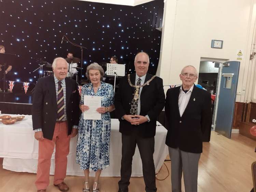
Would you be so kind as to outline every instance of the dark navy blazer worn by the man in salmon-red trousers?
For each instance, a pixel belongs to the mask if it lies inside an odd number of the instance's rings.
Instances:
[[[79,92],[75,80],[65,78],[66,113],[68,135],[72,126],[79,123]],[[52,140],[57,119],[57,96],[53,76],[38,79],[33,93],[32,122],[33,130],[42,129],[44,138]]]

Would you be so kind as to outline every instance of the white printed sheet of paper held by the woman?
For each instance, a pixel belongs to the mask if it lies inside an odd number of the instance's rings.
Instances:
[[[97,108],[101,107],[100,96],[84,95],[84,105],[89,107],[88,110],[84,111],[84,119],[101,120],[101,114],[96,111]]]

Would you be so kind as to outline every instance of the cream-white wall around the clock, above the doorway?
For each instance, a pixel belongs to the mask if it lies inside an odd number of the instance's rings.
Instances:
[[[162,45],[157,75],[164,84],[180,84],[181,69],[188,64],[199,70],[200,58],[238,61],[238,91],[246,87],[253,38],[255,0],[166,0]],[[211,40],[223,40],[223,49],[211,48]],[[247,91],[247,90],[246,90]],[[244,102],[244,95],[237,95]]]

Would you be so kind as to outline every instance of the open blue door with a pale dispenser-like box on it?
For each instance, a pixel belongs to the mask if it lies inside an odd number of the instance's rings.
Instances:
[[[240,62],[223,63],[215,131],[230,138]]]

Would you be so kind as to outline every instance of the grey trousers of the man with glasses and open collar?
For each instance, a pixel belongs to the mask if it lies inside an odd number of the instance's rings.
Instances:
[[[201,153],[189,153],[169,147],[172,192],[181,192],[183,171],[185,192],[197,192],[198,162]]]

